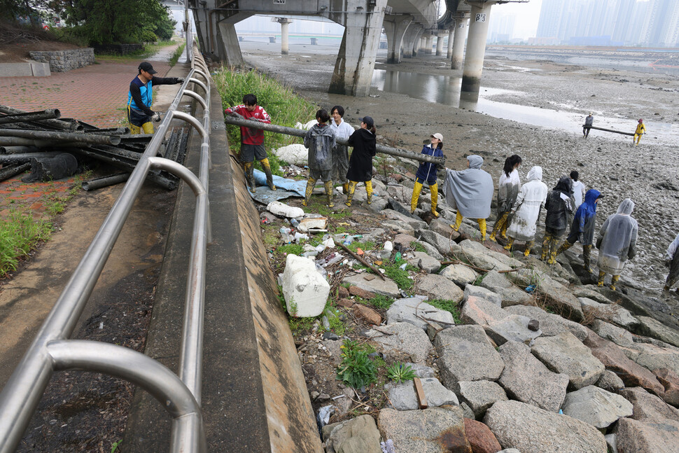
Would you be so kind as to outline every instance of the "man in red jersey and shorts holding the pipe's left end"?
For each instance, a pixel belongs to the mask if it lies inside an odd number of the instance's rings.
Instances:
[[[225,109],[224,114],[241,118],[241,120],[271,124],[269,113],[262,106],[257,105],[257,96],[252,93],[243,97],[243,104]],[[240,161],[243,162],[245,179],[252,193],[255,193],[256,190],[253,167],[255,158],[259,160],[264,173],[267,175],[267,186],[271,190],[276,190],[274,176],[271,174],[271,165],[269,165],[269,159],[267,158],[267,150],[264,148],[264,131],[253,127],[241,126]]]

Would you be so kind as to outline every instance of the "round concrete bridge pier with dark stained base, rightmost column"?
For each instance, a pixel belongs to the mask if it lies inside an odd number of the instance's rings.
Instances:
[[[491,8],[495,1],[467,0],[472,7],[467,53],[462,71],[462,91],[478,92],[481,88],[483,59],[486,55],[486,36],[491,17]]]

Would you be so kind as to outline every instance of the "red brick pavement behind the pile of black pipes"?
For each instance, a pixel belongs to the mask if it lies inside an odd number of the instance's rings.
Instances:
[[[63,118],[118,127],[125,120],[127,92],[138,66],[97,59],[91,66],[49,77],[0,77],[0,104],[25,111],[59,109]],[[167,62],[153,62],[153,68],[159,77],[170,69]]]

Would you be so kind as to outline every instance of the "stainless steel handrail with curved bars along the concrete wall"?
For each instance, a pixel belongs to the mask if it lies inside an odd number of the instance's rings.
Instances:
[[[143,387],[161,401],[173,418],[170,451],[207,452],[200,412],[200,393],[205,256],[207,244],[211,241],[208,199],[211,85],[207,65],[202,61],[200,53],[193,51],[191,33],[187,35],[188,47],[191,47],[192,69],[85,256],[80,260],[31,346],[0,393],[0,453],[15,451],[52,373],[71,368],[104,372]],[[196,67],[200,69],[195,69]],[[193,76],[201,76],[204,83]],[[204,99],[187,89],[190,83],[202,88]],[[202,106],[202,123],[193,116],[176,110],[184,95],[196,99],[197,104]],[[177,162],[156,157],[165,132],[173,119],[190,123],[202,137],[198,176]],[[68,340],[151,169],[164,169],[179,176],[196,196],[179,377],[164,365],[132,349],[103,342]]]

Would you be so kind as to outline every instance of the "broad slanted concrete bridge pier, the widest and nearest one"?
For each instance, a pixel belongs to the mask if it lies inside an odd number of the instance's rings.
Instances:
[[[365,1],[346,2],[347,11],[356,13],[345,16],[342,44],[328,92],[356,97],[367,96],[370,92],[386,2],[375,0],[367,6]]]

